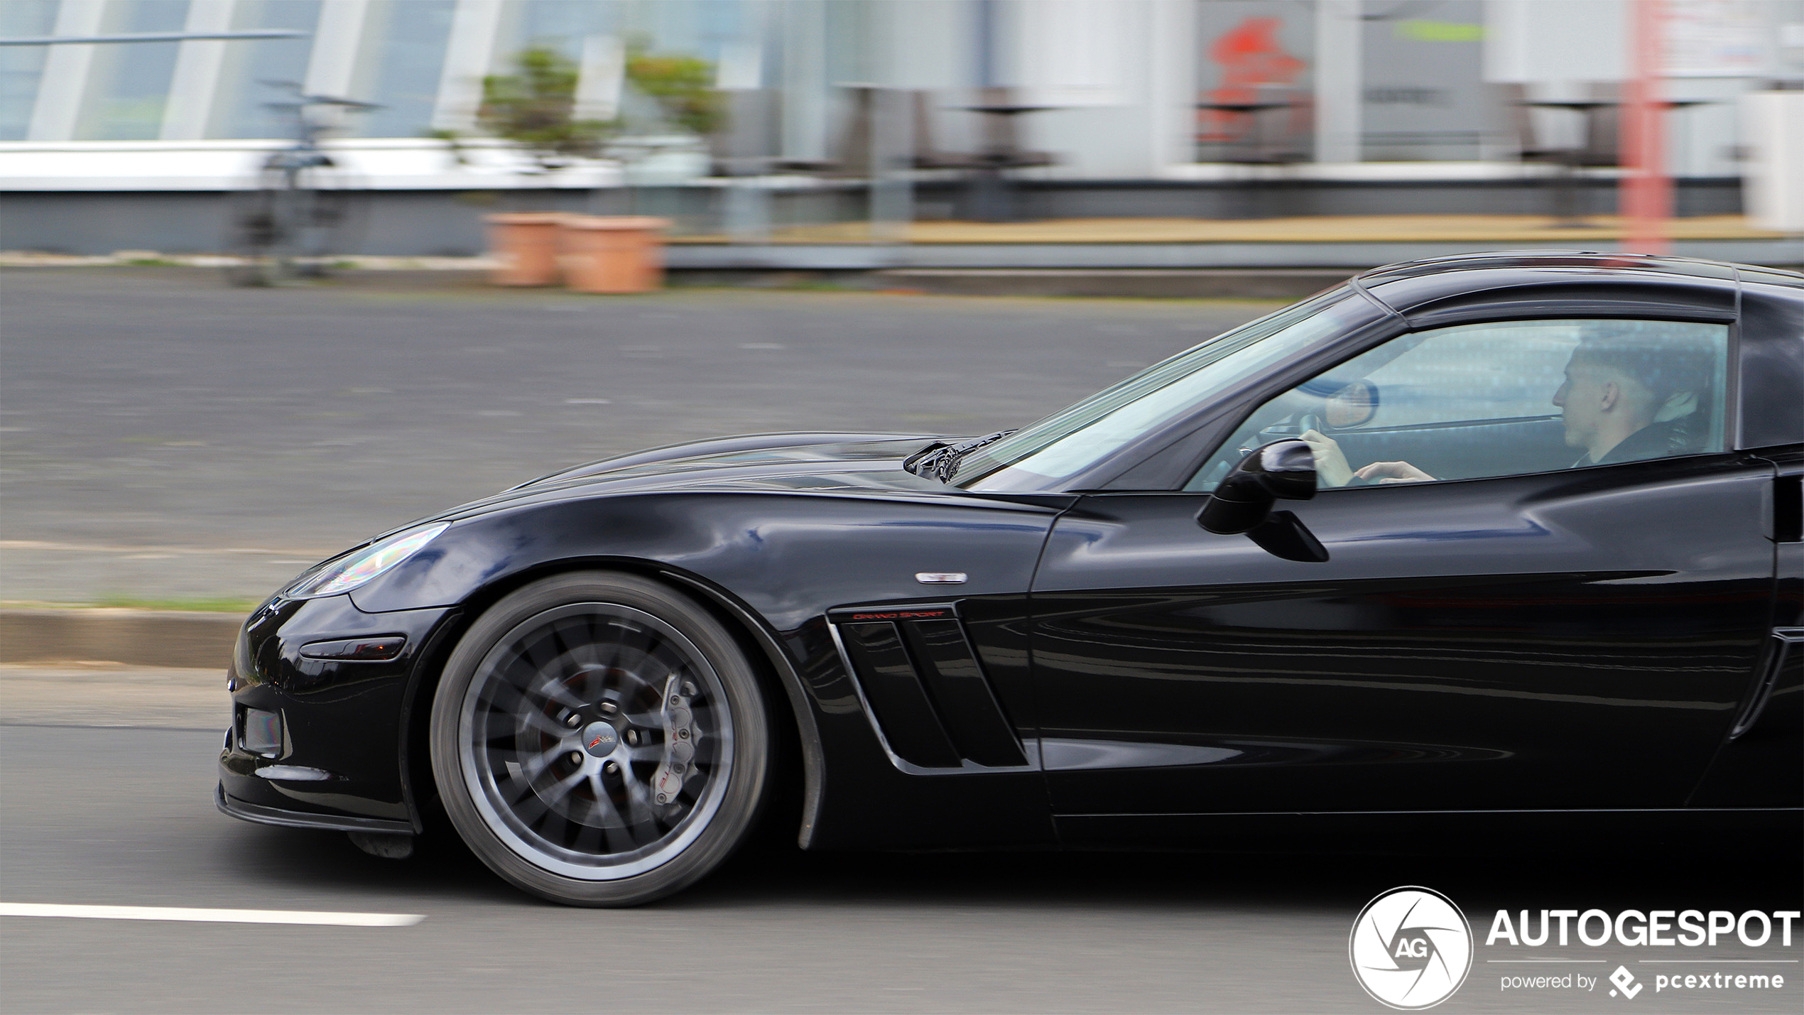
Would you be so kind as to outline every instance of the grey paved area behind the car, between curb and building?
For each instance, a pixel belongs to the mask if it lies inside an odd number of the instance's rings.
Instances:
[[[610,454],[1021,425],[1275,306],[406,281],[0,272],[0,599],[254,600]]]

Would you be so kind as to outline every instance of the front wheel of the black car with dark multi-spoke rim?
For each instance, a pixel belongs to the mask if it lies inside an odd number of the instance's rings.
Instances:
[[[431,712],[446,813],[536,896],[639,905],[718,867],[758,820],[770,723],[732,635],[615,572],[548,577],[482,613]]]

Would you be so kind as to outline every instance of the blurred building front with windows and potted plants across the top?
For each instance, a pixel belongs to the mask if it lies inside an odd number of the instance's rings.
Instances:
[[[678,270],[1366,267],[1607,243],[1645,169],[1656,245],[1804,261],[1804,0],[5,0],[0,36],[13,252],[231,252],[316,144],[346,256],[588,211],[671,220]]]

